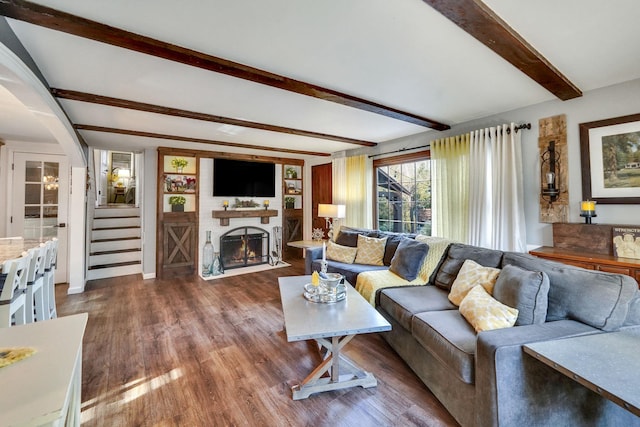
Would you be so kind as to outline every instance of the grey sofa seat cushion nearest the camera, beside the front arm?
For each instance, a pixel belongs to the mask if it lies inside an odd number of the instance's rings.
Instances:
[[[429,311],[413,317],[413,337],[467,384],[475,379],[476,332],[458,310]]]

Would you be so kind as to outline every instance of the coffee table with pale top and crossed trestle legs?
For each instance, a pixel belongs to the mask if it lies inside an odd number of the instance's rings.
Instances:
[[[332,304],[307,301],[303,287],[310,281],[311,276],[278,279],[287,341],[313,339],[323,354],[322,362],[300,384],[292,387],[293,399],[355,386],[375,387],[378,382],[373,374],[363,371],[342,355],[341,350],[357,334],[389,331],[391,324],[348,283],[345,283],[347,297],[343,301]],[[322,377],[326,372],[330,377]]]

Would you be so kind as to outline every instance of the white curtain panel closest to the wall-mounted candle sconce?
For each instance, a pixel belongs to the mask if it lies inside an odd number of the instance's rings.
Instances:
[[[526,252],[521,135],[513,123],[471,133],[472,245]]]

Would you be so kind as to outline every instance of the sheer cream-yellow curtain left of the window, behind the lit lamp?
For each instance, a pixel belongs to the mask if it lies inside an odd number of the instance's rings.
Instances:
[[[373,162],[365,155],[333,160],[333,203],[346,209],[340,225],[373,227],[372,169]]]

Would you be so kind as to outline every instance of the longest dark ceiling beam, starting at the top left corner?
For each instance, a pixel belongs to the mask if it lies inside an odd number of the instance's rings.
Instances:
[[[425,126],[436,130],[446,130],[449,126],[416,114],[387,107],[366,99],[340,93],[332,89],[290,79],[285,76],[239,64],[216,56],[187,49],[171,43],[125,31],[116,27],[91,21],[70,13],[21,0],[0,0],[0,14],[9,18],[62,31],[78,37],[146,53],[159,58],[216,73],[227,74],[244,80],[268,85],[301,95],[331,101],[371,113],[381,114],[396,120]]]

